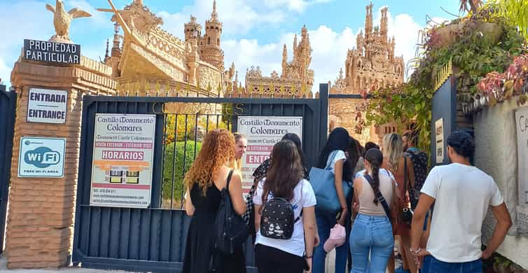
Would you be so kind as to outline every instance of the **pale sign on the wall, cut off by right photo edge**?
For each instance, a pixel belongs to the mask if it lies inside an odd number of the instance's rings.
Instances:
[[[517,230],[528,235],[528,107],[522,107],[515,111],[515,127],[517,127],[517,175],[519,183]]]

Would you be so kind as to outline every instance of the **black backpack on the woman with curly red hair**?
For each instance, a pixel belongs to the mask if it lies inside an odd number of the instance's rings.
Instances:
[[[232,254],[237,246],[242,246],[249,236],[249,229],[242,220],[242,216],[235,213],[232,208],[231,197],[229,195],[229,182],[232,170],[228,174],[228,181],[222,189],[220,207],[216,214],[216,237],[214,248],[221,252]]]

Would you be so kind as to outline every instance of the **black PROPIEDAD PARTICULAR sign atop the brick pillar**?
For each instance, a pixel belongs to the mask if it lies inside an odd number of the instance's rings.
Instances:
[[[24,59],[54,64],[81,64],[81,45],[25,39]]]

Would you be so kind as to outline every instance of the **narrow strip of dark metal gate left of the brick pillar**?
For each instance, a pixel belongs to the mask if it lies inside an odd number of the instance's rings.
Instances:
[[[17,94],[0,85],[0,253],[4,251]]]

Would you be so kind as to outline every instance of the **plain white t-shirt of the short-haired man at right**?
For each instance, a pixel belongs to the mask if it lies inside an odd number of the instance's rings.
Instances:
[[[489,206],[503,203],[493,178],[473,166],[438,166],[427,176],[422,193],[436,200],[427,251],[442,262],[480,259],[482,221]]]

